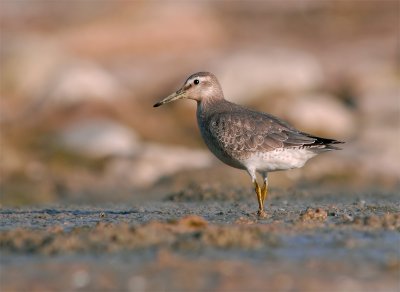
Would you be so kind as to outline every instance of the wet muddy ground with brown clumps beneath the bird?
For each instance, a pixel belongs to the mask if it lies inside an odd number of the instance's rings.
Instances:
[[[399,291],[399,192],[199,189],[2,208],[2,291]]]

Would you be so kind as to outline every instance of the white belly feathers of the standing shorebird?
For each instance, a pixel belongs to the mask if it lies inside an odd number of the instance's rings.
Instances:
[[[317,153],[303,148],[276,149],[270,152],[255,153],[243,164],[247,169],[270,172],[302,167],[315,155]]]

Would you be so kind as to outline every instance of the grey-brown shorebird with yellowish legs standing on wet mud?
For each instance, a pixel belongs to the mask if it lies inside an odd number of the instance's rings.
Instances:
[[[209,72],[191,75],[178,91],[154,107],[179,99],[197,102],[197,124],[211,152],[227,165],[248,172],[260,218],[266,217],[269,172],[300,168],[322,152],[340,149],[334,144],[343,143],[301,132],[273,115],[227,101],[217,78]],[[263,178],[262,187],[257,172]]]

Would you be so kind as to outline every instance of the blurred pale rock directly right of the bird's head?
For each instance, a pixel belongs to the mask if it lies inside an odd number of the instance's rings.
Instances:
[[[245,103],[271,92],[304,92],[319,87],[323,72],[318,61],[296,50],[270,49],[234,53],[214,66],[225,97]]]

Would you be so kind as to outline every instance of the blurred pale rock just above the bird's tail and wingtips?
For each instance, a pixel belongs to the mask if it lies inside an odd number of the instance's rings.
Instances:
[[[276,99],[272,103],[274,112],[302,131],[336,139],[355,133],[356,116],[334,96],[308,94]]]

